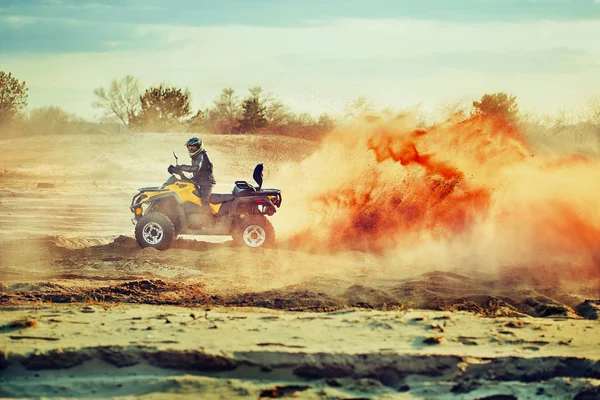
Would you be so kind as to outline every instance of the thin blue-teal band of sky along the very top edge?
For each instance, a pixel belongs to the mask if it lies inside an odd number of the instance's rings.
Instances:
[[[600,18],[600,9],[593,0],[3,0],[0,10],[10,15],[178,26],[293,27],[306,26],[315,20],[339,18],[407,18],[454,22]]]

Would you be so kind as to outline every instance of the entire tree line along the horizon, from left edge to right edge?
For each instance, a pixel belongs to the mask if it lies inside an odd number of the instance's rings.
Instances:
[[[308,113],[294,113],[261,87],[250,88],[243,97],[232,88],[225,88],[209,107],[198,110],[192,110],[188,89],[160,84],[142,90],[139,80],[131,75],[112,80],[107,87],[95,89],[93,95],[92,105],[104,111],[104,121],[118,121],[127,131],[259,133],[319,140],[339,122],[328,114],[314,118]],[[56,106],[25,113],[27,100],[26,82],[10,72],[0,71],[0,127],[18,121],[27,125],[27,130],[32,133],[53,133],[62,132],[73,123],[84,122]],[[345,117],[353,118],[372,111],[367,99],[359,97],[347,103]],[[453,111],[457,110],[449,108],[445,114],[450,115]],[[473,101],[470,114],[520,123],[516,97],[503,92],[484,94]],[[590,105],[588,122],[600,126],[599,116],[600,104]]]

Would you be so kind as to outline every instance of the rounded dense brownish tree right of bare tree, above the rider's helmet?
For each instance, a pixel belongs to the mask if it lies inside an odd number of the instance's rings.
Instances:
[[[130,118],[132,126],[165,131],[190,115],[190,92],[176,87],[153,87],[140,97],[140,112]]]

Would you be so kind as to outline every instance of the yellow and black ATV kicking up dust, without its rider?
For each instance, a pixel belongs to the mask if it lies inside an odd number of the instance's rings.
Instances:
[[[140,247],[165,250],[178,235],[232,236],[234,244],[250,248],[274,244],[275,230],[267,216],[281,206],[281,191],[262,188],[263,164],[253,173],[258,186],[236,181],[231,193],[211,194],[210,212],[202,207],[199,188],[191,179],[173,165],[167,171],[171,176],[161,187],[140,188],[131,201]]]

